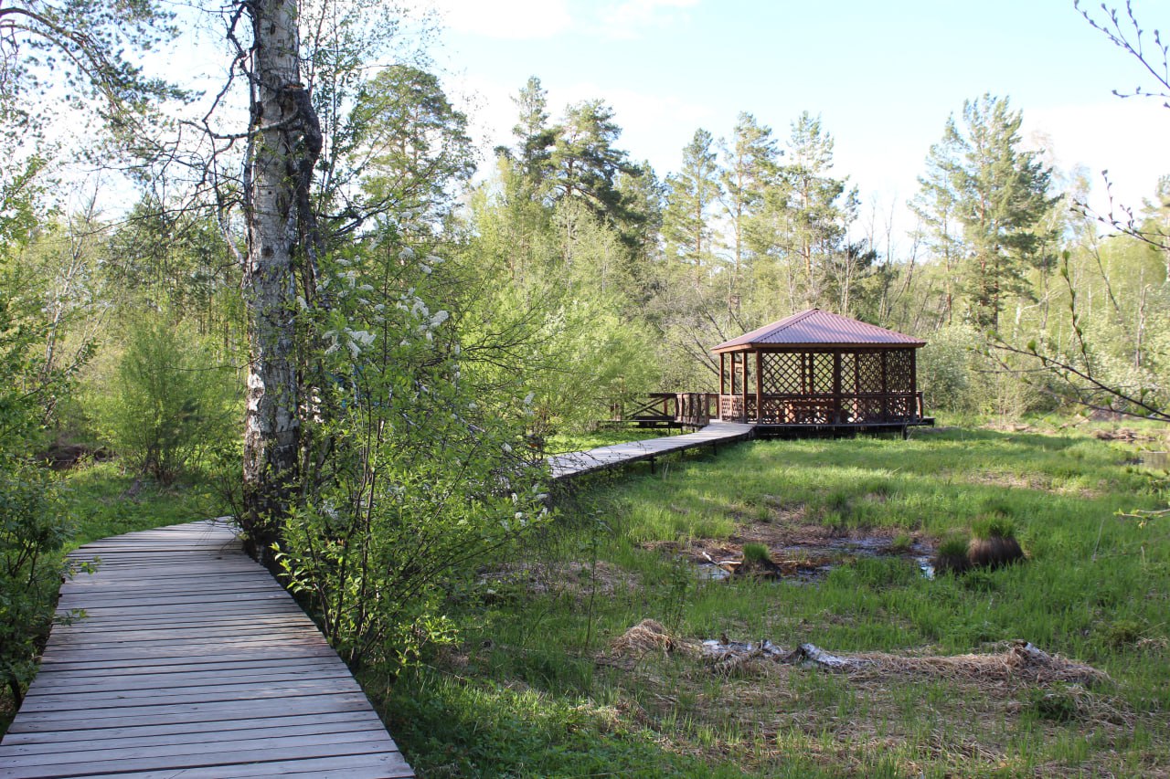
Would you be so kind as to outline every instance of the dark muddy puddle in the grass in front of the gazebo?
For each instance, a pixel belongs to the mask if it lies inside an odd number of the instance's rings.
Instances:
[[[814,584],[825,579],[838,566],[848,565],[859,558],[874,557],[904,559],[917,566],[923,578],[935,578],[935,568],[930,563],[931,549],[918,540],[909,547],[895,547],[893,538],[882,536],[833,538],[815,543],[770,546],[769,553],[779,571],[778,579],[784,581]],[[697,559],[693,554],[683,554],[683,559],[695,565],[701,578],[722,581],[735,575],[734,571],[743,558],[742,553],[716,557],[702,551]]]

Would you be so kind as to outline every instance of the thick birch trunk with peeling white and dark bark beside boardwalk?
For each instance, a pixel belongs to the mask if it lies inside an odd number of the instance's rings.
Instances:
[[[311,277],[315,220],[309,205],[321,127],[301,83],[296,0],[254,0],[252,142],[243,292],[249,322],[248,405],[241,517],[262,559],[277,538],[296,483],[300,444],[296,364],[297,274]]]

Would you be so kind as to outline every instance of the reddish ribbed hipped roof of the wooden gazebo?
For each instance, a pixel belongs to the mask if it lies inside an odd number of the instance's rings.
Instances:
[[[724,342],[711,351],[716,353],[741,352],[757,347],[784,346],[868,346],[878,349],[910,346],[917,349],[925,345],[924,340],[893,330],[858,322],[839,313],[808,309]]]

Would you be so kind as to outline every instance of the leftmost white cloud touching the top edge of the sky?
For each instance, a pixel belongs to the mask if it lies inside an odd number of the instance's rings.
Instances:
[[[552,37],[573,23],[566,0],[429,0],[429,5],[452,29],[484,37]]]

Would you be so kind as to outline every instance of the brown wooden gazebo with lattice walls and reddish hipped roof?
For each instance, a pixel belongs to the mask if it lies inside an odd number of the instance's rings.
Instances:
[[[722,343],[720,419],[764,428],[904,429],[922,408],[925,342],[820,309]]]

